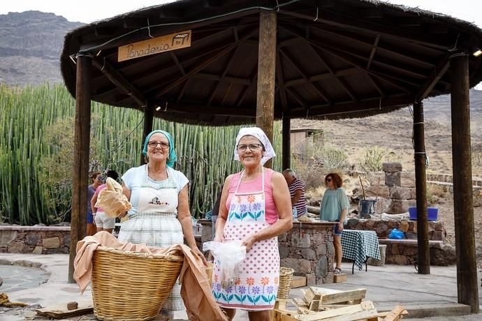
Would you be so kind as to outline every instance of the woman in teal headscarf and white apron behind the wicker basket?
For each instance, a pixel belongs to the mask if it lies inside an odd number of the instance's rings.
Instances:
[[[194,239],[189,211],[188,179],[173,169],[176,153],[173,137],[163,130],[154,130],[145,138],[143,154],[147,164],[133,167],[123,176],[124,195],[132,209],[129,220],[122,223],[120,241],[166,247],[187,244],[205,262]],[[163,310],[184,310],[178,282],[174,285]]]

